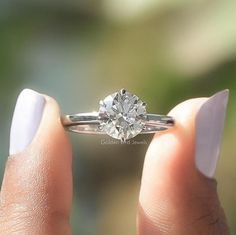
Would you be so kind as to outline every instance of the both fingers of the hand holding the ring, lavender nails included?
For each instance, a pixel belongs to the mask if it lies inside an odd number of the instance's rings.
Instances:
[[[145,157],[139,235],[228,235],[212,178],[228,91],[188,100],[176,127],[156,134]],[[71,234],[72,151],[52,98],[24,90],[13,116],[0,194],[0,234]]]

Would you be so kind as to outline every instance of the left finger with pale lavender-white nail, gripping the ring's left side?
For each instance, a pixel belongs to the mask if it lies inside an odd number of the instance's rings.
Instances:
[[[0,196],[0,234],[70,234],[71,146],[57,103],[19,95]]]

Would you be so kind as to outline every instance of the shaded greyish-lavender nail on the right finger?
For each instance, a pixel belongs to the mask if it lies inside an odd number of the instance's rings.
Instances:
[[[220,155],[229,91],[221,91],[210,97],[196,117],[196,155],[199,171],[212,178]]]

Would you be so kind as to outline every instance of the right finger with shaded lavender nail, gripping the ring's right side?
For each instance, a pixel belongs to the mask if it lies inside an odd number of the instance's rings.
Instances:
[[[228,91],[185,101],[146,154],[139,198],[139,235],[229,234],[212,179],[219,157]]]

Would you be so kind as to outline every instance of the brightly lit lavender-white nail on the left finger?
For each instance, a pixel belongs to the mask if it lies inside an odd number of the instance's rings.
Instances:
[[[23,151],[32,142],[45,106],[45,98],[30,89],[23,90],[16,102],[11,131],[10,155]]]

